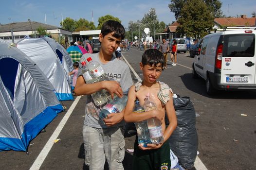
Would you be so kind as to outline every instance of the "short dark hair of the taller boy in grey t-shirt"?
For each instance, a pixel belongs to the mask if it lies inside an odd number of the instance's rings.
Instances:
[[[120,22],[113,20],[108,20],[104,22],[100,32],[103,35],[103,37],[112,32],[114,32],[113,36],[116,38],[125,38],[125,28]]]

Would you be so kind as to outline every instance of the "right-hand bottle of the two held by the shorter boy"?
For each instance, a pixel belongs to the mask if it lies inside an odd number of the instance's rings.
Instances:
[[[144,102],[145,111],[156,110],[156,103],[150,98],[149,95],[146,96]],[[156,118],[147,119],[147,128],[150,134],[151,142],[153,144],[159,144],[164,142],[164,136],[161,126],[161,121]]]

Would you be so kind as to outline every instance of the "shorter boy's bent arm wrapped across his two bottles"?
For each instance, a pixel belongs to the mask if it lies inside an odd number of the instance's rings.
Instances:
[[[132,112],[135,100],[136,100],[135,86],[132,85],[129,89],[128,101],[125,108],[124,119],[126,122],[140,122],[150,118],[157,118],[157,119],[163,120],[164,113],[162,113],[160,110],[151,110],[151,111],[142,112],[142,113]]]

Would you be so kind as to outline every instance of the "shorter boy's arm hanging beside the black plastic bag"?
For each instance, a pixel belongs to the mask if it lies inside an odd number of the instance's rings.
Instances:
[[[165,104],[165,111],[166,111],[167,118],[169,120],[169,125],[165,129],[164,142],[168,140],[168,138],[171,136],[171,134],[173,133],[173,131],[177,126],[177,118],[176,118],[175,109],[173,106],[173,99],[171,95],[172,93],[170,93],[170,100]]]

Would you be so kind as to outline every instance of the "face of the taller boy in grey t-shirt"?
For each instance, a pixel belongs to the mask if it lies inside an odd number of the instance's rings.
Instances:
[[[120,42],[121,42],[121,37],[116,38],[114,37],[112,33],[109,33],[103,37],[102,34],[99,34],[99,41],[101,42],[101,51],[108,55],[112,55],[114,51],[118,48]]]

